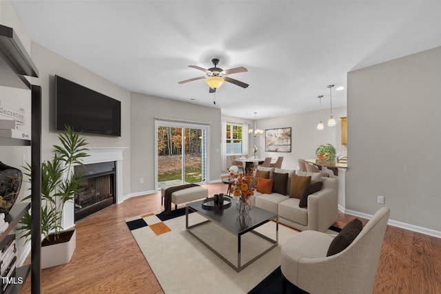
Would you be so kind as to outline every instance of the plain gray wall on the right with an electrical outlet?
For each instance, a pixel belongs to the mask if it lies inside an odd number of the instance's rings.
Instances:
[[[441,48],[349,72],[346,209],[441,231],[440,85]]]

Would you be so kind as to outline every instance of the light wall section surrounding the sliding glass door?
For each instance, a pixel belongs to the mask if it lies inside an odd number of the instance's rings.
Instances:
[[[132,93],[132,112],[130,116],[132,129],[132,194],[139,195],[140,193],[155,191],[155,117],[208,123],[210,141],[209,174],[207,176],[209,181],[220,180],[220,109]],[[139,178],[143,178],[144,182],[140,183]]]

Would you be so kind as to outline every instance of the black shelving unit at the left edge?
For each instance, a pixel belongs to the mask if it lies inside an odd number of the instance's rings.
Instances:
[[[0,146],[30,146],[31,176],[41,179],[41,87],[31,85],[25,76],[38,78],[37,67],[12,28],[0,25],[0,85],[31,90],[31,140],[0,137]],[[31,273],[31,291],[40,293],[41,284],[41,181],[33,180],[30,203],[15,203],[6,215],[8,229],[0,235],[0,242],[14,229],[26,211],[32,209],[31,264],[20,266],[16,277],[23,281]],[[19,293],[20,284],[8,286],[6,293]]]

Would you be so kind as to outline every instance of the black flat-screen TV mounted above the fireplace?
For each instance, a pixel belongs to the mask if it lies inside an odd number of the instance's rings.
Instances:
[[[55,76],[55,129],[121,136],[121,101]]]

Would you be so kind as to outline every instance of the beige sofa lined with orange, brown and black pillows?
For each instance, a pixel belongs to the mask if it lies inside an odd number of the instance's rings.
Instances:
[[[256,207],[278,213],[278,220],[282,224],[300,231],[326,231],[338,218],[338,182],[335,178],[322,177],[320,173],[309,173],[287,169],[258,167],[260,171],[270,171],[269,178],[274,171],[277,174],[288,174],[287,194],[260,193],[254,191],[252,204]],[[311,193],[307,197],[307,207],[299,207],[300,199],[290,198],[292,174],[297,176],[311,176],[311,182],[322,181],[320,191]]]

